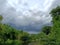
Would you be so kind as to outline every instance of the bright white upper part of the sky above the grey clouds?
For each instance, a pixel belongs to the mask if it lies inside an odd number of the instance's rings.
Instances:
[[[54,0],[7,0],[8,6],[12,6],[16,11],[41,10],[47,11]]]

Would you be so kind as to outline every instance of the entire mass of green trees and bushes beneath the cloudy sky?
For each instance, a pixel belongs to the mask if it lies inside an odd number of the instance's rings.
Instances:
[[[45,26],[38,34],[29,34],[2,24],[0,15],[0,45],[60,45],[60,7],[50,12],[53,26]]]

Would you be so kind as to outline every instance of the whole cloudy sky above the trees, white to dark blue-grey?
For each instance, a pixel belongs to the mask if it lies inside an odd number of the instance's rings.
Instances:
[[[51,24],[49,12],[59,4],[59,0],[0,0],[0,14],[3,23],[30,33],[39,32]]]

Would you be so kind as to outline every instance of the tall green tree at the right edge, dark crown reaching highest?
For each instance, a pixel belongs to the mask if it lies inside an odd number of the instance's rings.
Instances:
[[[60,44],[60,6],[52,9],[50,12],[52,15],[53,19],[53,27],[50,36],[52,39],[55,40],[55,44],[59,45]]]

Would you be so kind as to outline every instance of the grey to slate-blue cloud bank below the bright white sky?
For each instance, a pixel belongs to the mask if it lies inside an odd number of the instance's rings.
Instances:
[[[58,4],[60,4],[60,1],[55,0],[50,9],[56,7]],[[11,24],[13,27],[28,32],[39,32],[43,25],[51,24],[52,17],[49,11],[28,10],[25,13],[21,11],[16,12],[13,7],[7,7],[6,0],[0,1],[0,14],[4,17],[3,23]]]

